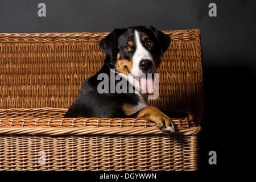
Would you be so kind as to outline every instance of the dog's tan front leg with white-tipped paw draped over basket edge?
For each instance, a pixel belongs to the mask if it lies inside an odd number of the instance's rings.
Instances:
[[[174,123],[171,119],[156,107],[148,106],[128,117],[143,118],[155,122],[156,127],[164,133],[174,133]]]

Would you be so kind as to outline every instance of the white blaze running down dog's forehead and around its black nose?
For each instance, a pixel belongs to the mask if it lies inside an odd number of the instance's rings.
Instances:
[[[135,30],[135,42],[136,42],[136,51],[134,52],[133,55],[133,68],[131,69],[131,73],[134,76],[140,76],[142,75],[142,70],[141,68],[139,68],[139,63],[141,62],[141,60],[143,59],[148,59],[152,61],[152,68],[150,73],[155,73],[155,61],[153,60],[151,53],[148,52],[142,45],[141,43],[141,39],[139,37],[139,33],[138,31]]]

